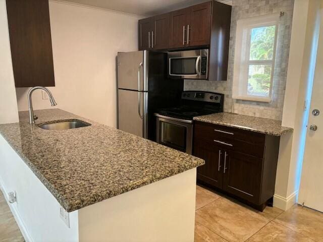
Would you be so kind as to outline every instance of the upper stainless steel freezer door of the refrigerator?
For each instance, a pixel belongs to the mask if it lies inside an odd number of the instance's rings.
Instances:
[[[147,91],[147,51],[118,53],[118,88]]]

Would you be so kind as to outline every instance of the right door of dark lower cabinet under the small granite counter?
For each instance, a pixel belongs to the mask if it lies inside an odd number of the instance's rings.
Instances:
[[[225,151],[223,189],[259,205],[262,159]]]

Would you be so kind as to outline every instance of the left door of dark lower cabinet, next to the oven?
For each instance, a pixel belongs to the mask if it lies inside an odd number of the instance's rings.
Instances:
[[[202,141],[194,142],[194,155],[205,160],[205,165],[197,167],[197,179],[222,189],[223,150],[218,146],[208,146]]]

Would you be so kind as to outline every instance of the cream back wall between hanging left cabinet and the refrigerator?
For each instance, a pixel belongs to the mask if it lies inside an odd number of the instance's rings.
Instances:
[[[50,1],[56,108],[96,122],[117,125],[116,56],[138,49],[138,19],[124,13]],[[28,88],[17,88],[19,110],[27,110]],[[50,108],[41,91],[34,109]]]

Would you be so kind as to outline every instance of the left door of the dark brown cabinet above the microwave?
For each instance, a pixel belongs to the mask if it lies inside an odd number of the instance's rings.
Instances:
[[[187,25],[190,8],[171,13],[170,48],[179,48],[187,45]]]

